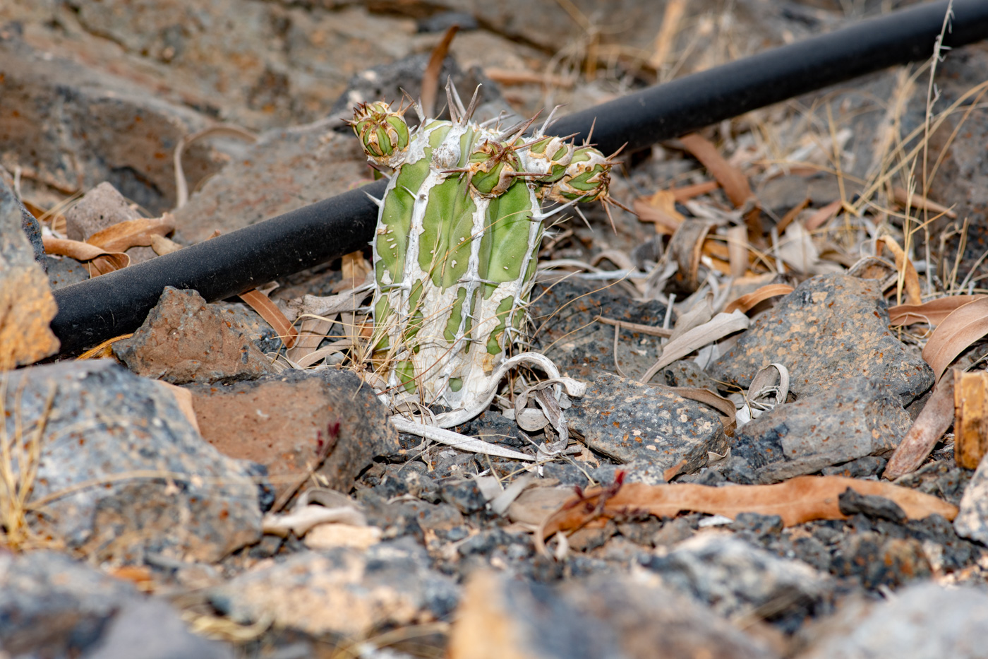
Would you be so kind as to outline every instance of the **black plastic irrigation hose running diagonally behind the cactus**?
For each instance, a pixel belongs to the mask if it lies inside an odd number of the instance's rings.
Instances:
[[[862,21],[718,66],[563,117],[558,135],[586,135],[609,152],[675,138],[793,96],[933,53],[947,1]],[[954,0],[946,46],[988,37],[988,0]],[[165,286],[220,300],[365,246],[384,183],[323,200],[277,218],[54,292],[51,329],[74,352],[143,323]]]

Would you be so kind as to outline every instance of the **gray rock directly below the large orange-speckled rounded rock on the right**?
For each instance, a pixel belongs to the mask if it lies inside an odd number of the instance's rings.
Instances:
[[[776,483],[865,455],[895,449],[909,430],[898,396],[868,378],[851,378],[744,424],[734,435],[729,470],[754,470]]]

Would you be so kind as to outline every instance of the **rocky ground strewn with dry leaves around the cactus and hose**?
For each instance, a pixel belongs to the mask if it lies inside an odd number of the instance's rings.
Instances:
[[[852,4],[0,6],[0,658],[988,656],[984,45],[935,99],[927,62],[622,154],[638,216],[540,253],[562,451],[514,381],[477,450],[389,423],[370,250],[264,288],[297,337],[174,288],[82,355],[47,329],[368,182],[341,120],[450,25],[443,79],[526,116],[887,9]]]

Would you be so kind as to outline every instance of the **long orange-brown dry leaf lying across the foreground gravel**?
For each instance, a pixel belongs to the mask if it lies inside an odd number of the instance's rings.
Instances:
[[[560,531],[576,530],[595,518],[620,518],[629,513],[675,517],[681,512],[736,518],[741,513],[778,515],[786,526],[813,519],[845,519],[838,497],[851,488],[863,495],[890,499],[910,519],[941,515],[953,519],[957,508],[946,501],[891,483],[843,476],[797,476],[775,485],[733,485],[718,488],[689,483],[645,485],[629,483],[593,488],[571,498],[542,520],[535,544],[548,555],[545,540]]]

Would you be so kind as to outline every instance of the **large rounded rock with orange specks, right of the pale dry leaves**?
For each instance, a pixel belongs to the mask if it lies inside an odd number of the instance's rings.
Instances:
[[[919,352],[889,331],[877,282],[845,274],[799,284],[758,317],[709,372],[747,388],[773,362],[789,369],[789,391],[800,397],[855,376],[884,384],[903,404],[933,386],[933,371]]]

